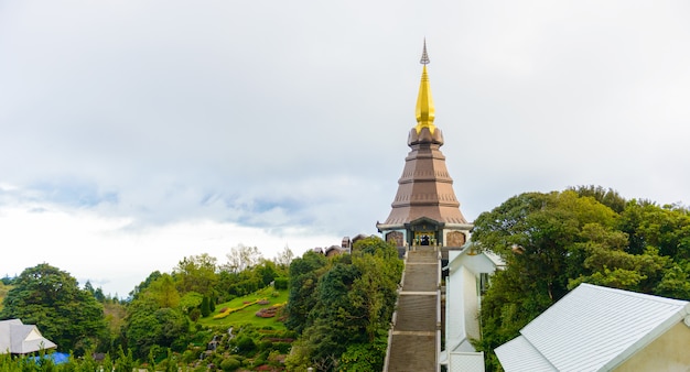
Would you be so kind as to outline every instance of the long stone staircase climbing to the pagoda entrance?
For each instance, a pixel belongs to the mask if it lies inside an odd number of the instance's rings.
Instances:
[[[433,249],[407,252],[386,371],[436,371],[439,259]]]

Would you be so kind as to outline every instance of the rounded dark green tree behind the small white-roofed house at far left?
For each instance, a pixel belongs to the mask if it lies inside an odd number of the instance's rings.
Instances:
[[[21,273],[4,298],[0,318],[35,324],[58,348],[77,354],[108,339],[103,305],[67,272],[47,263]]]

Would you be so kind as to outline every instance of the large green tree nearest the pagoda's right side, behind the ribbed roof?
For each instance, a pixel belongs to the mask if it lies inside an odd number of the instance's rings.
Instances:
[[[477,347],[488,353],[488,370],[495,347],[516,337],[568,293],[570,280],[585,274],[589,252],[582,244],[594,232],[603,236],[601,244],[621,244],[616,218],[595,198],[567,190],[521,194],[476,219],[473,240],[506,262],[482,302],[484,337]]]

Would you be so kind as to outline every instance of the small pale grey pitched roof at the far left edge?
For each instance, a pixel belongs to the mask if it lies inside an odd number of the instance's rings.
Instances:
[[[26,354],[57,346],[44,338],[39,328],[19,319],[0,320],[0,354]]]

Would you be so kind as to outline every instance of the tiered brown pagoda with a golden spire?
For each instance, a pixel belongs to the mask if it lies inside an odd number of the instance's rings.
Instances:
[[[460,211],[453,179],[440,147],[443,133],[434,125],[435,110],[427,65],[427,42],[420,63],[422,78],[417,97],[417,125],[410,130],[402,176],[392,209],[384,223],[376,223],[386,241],[397,247],[435,245],[460,248],[470,238],[472,225]]]

